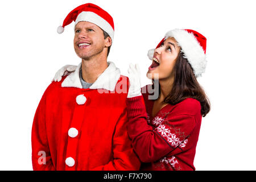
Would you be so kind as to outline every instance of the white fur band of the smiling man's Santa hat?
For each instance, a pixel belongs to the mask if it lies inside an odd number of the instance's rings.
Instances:
[[[104,18],[101,18],[101,16],[91,11],[82,11],[76,18],[75,27],[77,23],[83,22],[83,21],[96,24],[98,27],[100,27],[102,30],[104,30],[109,34],[113,42],[114,30],[112,26]]]

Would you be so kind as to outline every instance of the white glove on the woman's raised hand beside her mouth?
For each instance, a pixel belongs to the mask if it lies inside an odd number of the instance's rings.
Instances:
[[[127,98],[141,96],[141,72],[139,71],[139,65],[130,63],[128,68],[130,88],[127,94]]]

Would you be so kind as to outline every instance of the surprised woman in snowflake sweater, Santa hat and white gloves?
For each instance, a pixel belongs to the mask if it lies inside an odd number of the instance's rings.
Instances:
[[[156,49],[148,51],[153,93],[150,85],[141,89],[138,65],[130,65],[128,133],[142,170],[195,170],[201,118],[210,110],[196,80],[205,70],[205,49],[206,38],[199,32],[168,31]],[[56,73],[55,80],[66,69]]]

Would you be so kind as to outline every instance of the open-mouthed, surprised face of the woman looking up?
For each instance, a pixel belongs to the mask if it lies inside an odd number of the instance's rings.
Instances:
[[[177,45],[176,40],[174,38],[166,39],[159,48],[155,49],[147,77],[156,80],[173,77],[173,69],[179,52],[180,47]]]

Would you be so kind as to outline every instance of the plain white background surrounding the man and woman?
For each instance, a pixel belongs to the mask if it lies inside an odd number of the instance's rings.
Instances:
[[[127,76],[139,63],[149,84],[148,49],[168,30],[188,28],[207,38],[207,70],[199,78],[212,108],[203,118],[197,170],[255,170],[254,1],[90,1],[114,19],[108,60]],[[56,32],[65,16],[86,1],[0,1],[0,169],[32,170],[31,126],[55,72],[79,64],[73,26]]]

